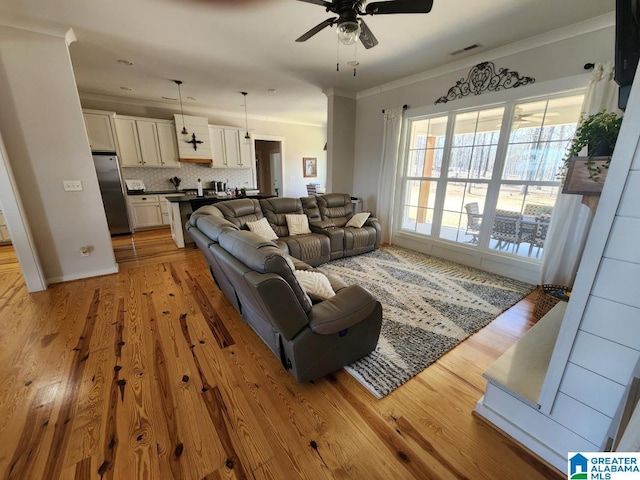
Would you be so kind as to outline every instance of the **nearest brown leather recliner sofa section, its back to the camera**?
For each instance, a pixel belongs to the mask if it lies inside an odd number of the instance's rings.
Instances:
[[[216,283],[296,380],[320,378],[375,348],[382,307],[367,290],[328,275],[335,296],[312,303],[295,275],[312,267],[215,211],[200,210],[187,229]]]

